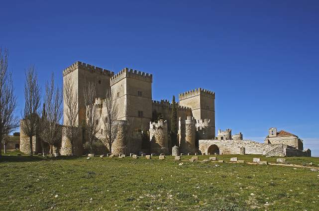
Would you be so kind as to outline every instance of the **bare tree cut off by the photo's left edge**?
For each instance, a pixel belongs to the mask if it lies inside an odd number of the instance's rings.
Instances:
[[[14,115],[14,110],[17,106],[17,102],[16,97],[13,94],[13,82],[11,73],[7,71],[7,68],[8,51],[5,49],[2,52],[2,49],[0,48],[0,142],[3,139],[4,148],[7,142],[6,140],[4,140],[5,138],[3,136],[7,136],[19,125],[18,118]]]

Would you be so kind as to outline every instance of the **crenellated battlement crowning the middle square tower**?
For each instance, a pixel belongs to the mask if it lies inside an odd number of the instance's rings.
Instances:
[[[122,80],[123,78],[133,78],[142,81],[151,82],[153,81],[153,75],[145,72],[141,72],[138,70],[124,68],[123,70],[119,71],[115,75],[110,78],[110,85],[117,83],[118,81]]]

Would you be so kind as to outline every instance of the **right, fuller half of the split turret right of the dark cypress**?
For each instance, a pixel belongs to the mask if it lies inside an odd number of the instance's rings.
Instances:
[[[192,116],[187,116],[185,120],[185,145],[183,153],[195,153],[195,119]]]

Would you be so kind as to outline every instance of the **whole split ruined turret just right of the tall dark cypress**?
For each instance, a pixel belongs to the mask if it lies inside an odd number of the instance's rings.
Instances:
[[[196,139],[196,130],[195,130],[195,119],[192,116],[187,116],[185,121],[182,118],[179,118],[179,142],[180,142],[180,151],[181,153],[192,153],[196,151],[195,139]]]

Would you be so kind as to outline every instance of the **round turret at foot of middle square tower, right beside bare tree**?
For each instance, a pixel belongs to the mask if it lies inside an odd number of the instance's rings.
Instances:
[[[125,138],[126,138],[126,120],[116,120],[115,125],[118,126],[117,135],[112,143],[112,154],[125,154]]]

